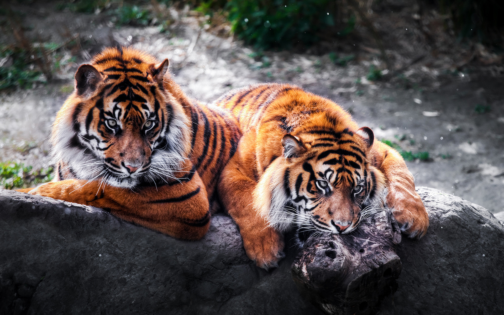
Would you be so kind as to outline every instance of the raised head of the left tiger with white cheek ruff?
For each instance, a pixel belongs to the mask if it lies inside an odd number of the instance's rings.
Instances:
[[[107,48],[79,68],[53,125],[59,179],[132,188],[173,177],[187,156],[188,119],[166,88],[167,69],[168,59],[132,48]]]

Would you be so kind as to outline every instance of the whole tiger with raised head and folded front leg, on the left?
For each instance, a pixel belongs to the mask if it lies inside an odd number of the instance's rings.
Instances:
[[[229,113],[188,98],[167,70],[168,59],[122,47],[81,66],[52,129],[56,181],[21,191],[201,238],[241,135]]]

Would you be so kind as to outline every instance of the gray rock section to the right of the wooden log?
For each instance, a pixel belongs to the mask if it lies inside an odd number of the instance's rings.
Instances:
[[[459,197],[418,193],[430,226],[419,241],[402,238],[398,289],[379,314],[504,314],[504,227]]]

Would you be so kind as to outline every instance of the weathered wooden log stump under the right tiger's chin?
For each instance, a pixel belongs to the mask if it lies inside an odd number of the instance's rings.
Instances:
[[[348,235],[310,237],[291,270],[297,288],[328,314],[373,314],[397,290],[399,225],[379,211]]]

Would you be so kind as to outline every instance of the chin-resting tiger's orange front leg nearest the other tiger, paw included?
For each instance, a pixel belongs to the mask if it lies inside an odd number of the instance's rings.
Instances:
[[[258,267],[269,270],[278,267],[278,262],[285,257],[283,234],[253,209],[252,194],[257,182],[244,174],[238,158],[239,154],[235,154],[221,174],[219,197],[240,229],[248,258]]]

